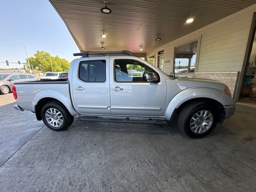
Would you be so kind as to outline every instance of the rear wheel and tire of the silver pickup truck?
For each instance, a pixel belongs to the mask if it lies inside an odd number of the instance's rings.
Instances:
[[[74,121],[74,116],[58,101],[45,104],[41,111],[41,117],[44,124],[54,131],[65,130]]]

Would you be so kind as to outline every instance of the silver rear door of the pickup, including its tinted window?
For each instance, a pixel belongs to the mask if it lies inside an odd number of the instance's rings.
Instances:
[[[70,92],[80,114],[110,114],[109,58],[76,60]]]

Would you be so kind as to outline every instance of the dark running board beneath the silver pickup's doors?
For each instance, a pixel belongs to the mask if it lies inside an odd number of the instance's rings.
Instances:
[[[154,124],[165,125],[166,120],[161,119],[130,119],[130,118],[107,118],[107,117],[90,117],[79,116],[78,121],[98,121],[98,122],[113,122],[113,123],[136,123],[136,124]]]

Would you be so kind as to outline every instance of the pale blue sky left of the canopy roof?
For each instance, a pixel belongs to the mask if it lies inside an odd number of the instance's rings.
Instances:
[[[72,61],[80,52],[66,25],[48,0],[0,0],[0,62],[26,62],[37,50]],[[0,68],[23,65],[0,63]]]

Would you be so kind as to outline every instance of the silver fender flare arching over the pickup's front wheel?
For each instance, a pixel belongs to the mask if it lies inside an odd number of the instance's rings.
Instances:
[[[170,100],[164,112],[164,117],[166,120],[170,120],[174,110],[188,100],[194,98],[210,98],[220,102],[222,96],[223,92],[221,90],[209,87],[193,87],[182,90]]]

